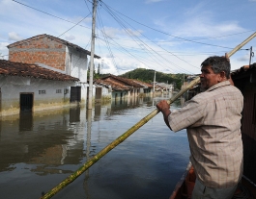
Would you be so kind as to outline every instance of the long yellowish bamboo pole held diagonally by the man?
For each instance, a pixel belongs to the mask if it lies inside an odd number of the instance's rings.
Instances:
[[[242,48],[243,45],[245,45],[249,40],[251,40],[253,37],[256,36],[256,32],[245,39],[240,45],[238,45],[236,48],[234,48],[230,53],[227,54],[228,57],[231,57],[235,52],[237,52],[240,48]],[[182,96],[185,91],[187,91],[189,88],[195,86],[200,82],[200,78],[196,78],[192,82],[190,82],[185,88],[180,90],[175,96],[173,96],[171,99],[169,99],[167,102],[169,104],[173,103],[175,100],[177,100],[180,96]],[[76,171],[74,171],[68,178],[66,178],[64,181],[62,181],[59,185],[56,187],[53,187],[50,189],[47,193],[45,193],[41,199],[48,199],[51,198],[53,195],[55,195],[57,192],[59,192],[64,187],[68,186],[73,182],[77,177],[79,177],[84,171],[86,171],[89,167],[91,167],[94,163],[98,162],[100,158],[102,158],[105,154],[107,154],[109,151],[111,151],[113,148],[115,148],[117,145],[122,143],[126,138],[128,138],[131,134],[133,134],[136,130],[138,130],[140,127],[142,127],[144,124],[146,124],[150,119],[152,119],[159,111],[156,109],[155,111],[149,113],[147,116],[142,118],[139,122],[137,122],[134,126],[132,126],[128,131],[123,134],[122,136],[116,138],[114,141],[112,141],[110,144],[108,144],[105,148],[103,148],[97,155],[95,155],[92,159],[90,159],[88,162],[85,162],[80,168],[78,168]]]

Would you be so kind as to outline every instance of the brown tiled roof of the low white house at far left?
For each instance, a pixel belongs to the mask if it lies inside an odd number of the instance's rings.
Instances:
[[[78,82],[78,78],[65,75],[50,69],[43,68],[37,64],[29,64],[23,62],[10,62],[0,60],[0,75],[33,77],[46,80],[72,81]]]

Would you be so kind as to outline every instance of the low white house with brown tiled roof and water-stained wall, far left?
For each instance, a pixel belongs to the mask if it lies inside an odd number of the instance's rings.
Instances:
[[[37,64],[0,60],[0,114],[37,112],[70,105],[78,78]]]

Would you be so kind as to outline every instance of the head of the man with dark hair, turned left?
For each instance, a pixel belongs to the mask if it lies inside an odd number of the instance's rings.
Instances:
[[[200,80],[203,89],[229,79],[230,62],[225,57],[210,57],[201,63],[201,67]]]

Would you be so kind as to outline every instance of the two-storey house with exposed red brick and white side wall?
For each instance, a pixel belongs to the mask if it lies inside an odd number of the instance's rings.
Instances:
[[[86,103],[87,63],[91,52],[67,40],[49,35],[30,37],[8,46],[9,61],[38,64],[44,68],[78,78],[71,92],[71,102]],[[95,55],[95,58],[100,59]]]

